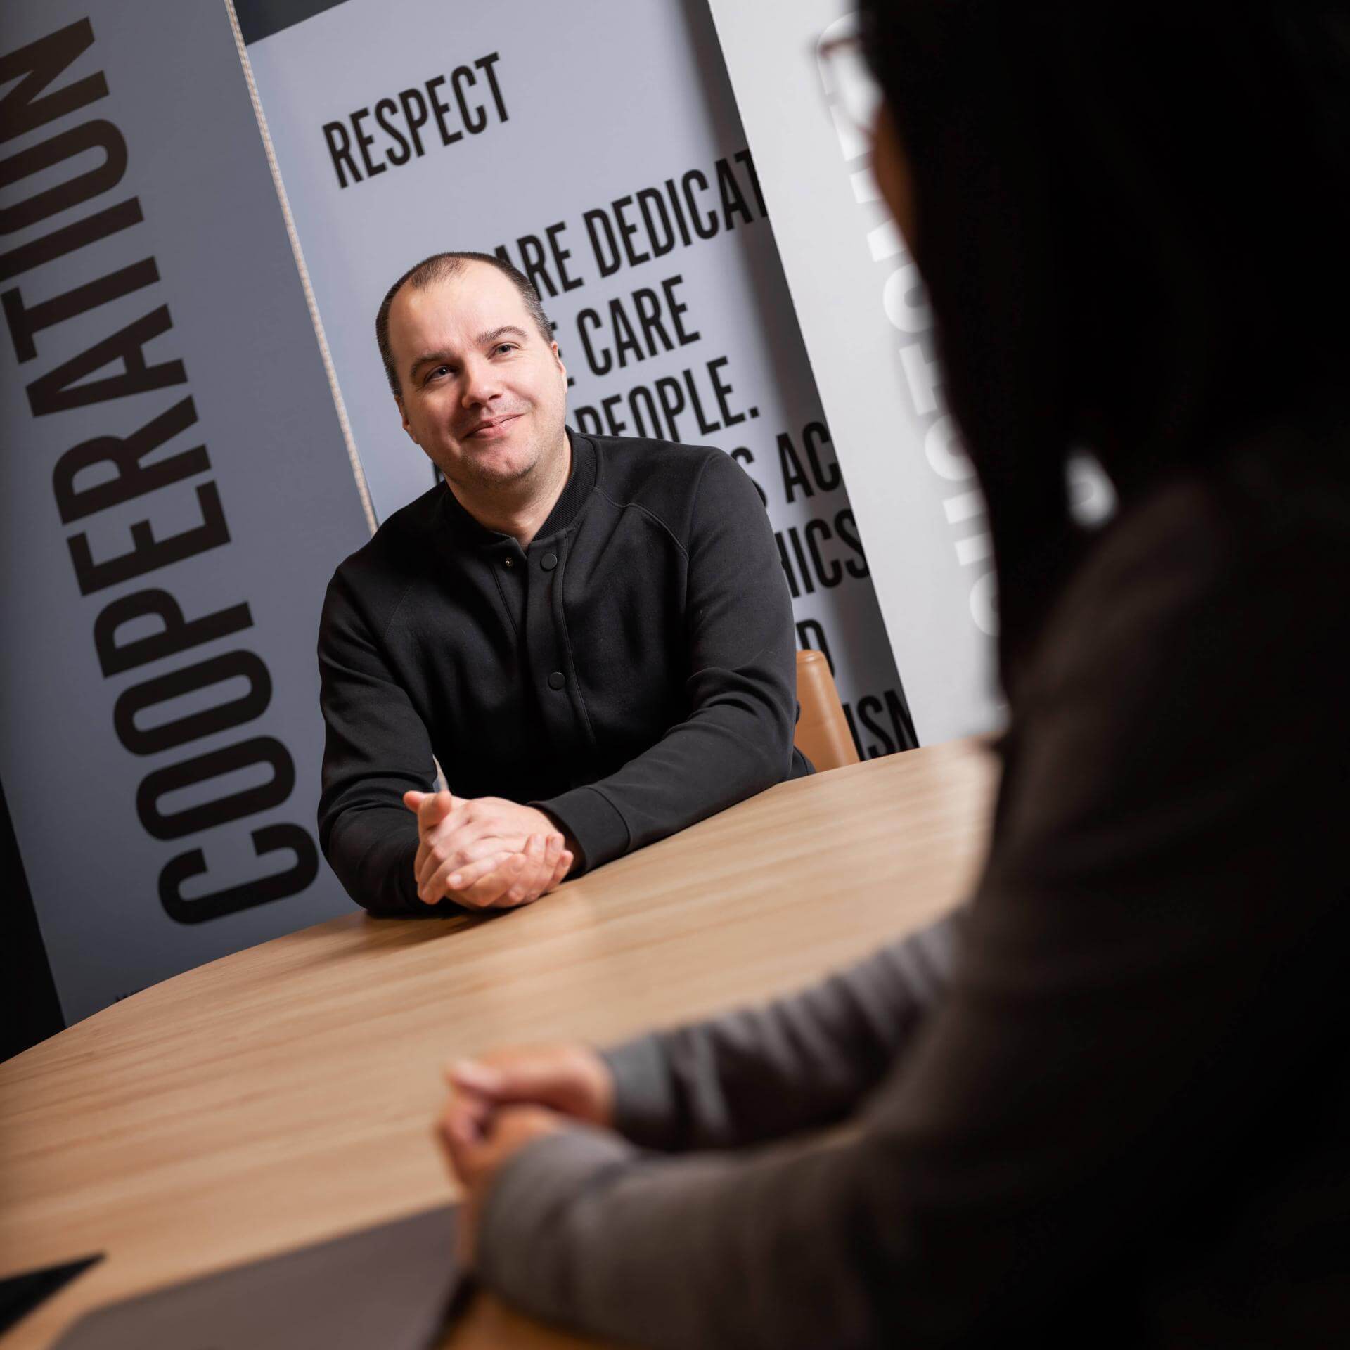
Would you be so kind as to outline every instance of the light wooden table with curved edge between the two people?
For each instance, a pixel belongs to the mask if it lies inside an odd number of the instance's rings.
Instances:
[[[0,1274],[107,1260],[20,1322],[425,1210],[441,1065],[605,1044],[792,990],[969,887],[992,759],[950,742],[783,783],[491,919],[352,913],[144,990],[0,1065]],[[578,1342],[479,1300],[459,1347]]]

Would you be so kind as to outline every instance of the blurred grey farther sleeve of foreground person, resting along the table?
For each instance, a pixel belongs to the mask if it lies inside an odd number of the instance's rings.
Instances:
[[[605,1053],[616,1127],[651,1149],[724,1149],[842,1119],[911,1042],[948,983],[948,915],[763,1007]]]

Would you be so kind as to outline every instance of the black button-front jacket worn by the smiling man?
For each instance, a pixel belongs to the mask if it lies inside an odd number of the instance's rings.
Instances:
[[[427,913],[402,794],[431,787],[433,755],[456,796],[558,819],[576,871],[811,772],[753,483],[720,450],[568,439],[571,477],[529,548],[440,485],[328,586],[319,840],[373,913]]]

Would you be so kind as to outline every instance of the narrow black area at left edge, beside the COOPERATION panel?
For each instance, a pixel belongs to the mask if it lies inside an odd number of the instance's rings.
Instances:
[[[0,1060],[65,1030],[32,892],[0,788]]]

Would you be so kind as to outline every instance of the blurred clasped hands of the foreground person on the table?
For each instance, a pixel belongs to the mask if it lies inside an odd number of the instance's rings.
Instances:
[[[580,1044],[494,1050],[451,1064],[446,1079],[451,1095],[436,1138],[462,1189],[456,1258],[468,1269],[498,1170],[568,1122],[610,1129],[614,1079],[601,1056]]]

